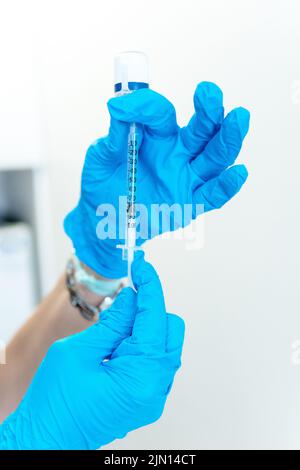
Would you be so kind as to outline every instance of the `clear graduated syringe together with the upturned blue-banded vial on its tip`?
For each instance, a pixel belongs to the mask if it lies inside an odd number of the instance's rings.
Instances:
[[[124,95],[135,90],[149,87],[148,61],[142,52],[129,51],[115,58],[115,93]],[[131,265],[136,247],[136,191],[138,163],[138,126],[131,123],[127,143],[127,209],[125,245],[118,245],[123,250],[123,259],[127,260],[128,285],[133,286]]]

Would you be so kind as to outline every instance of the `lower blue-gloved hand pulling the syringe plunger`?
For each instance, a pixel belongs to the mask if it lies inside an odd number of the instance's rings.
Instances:
[[[97,449],[161,416],[184,323],[166,314],[159,278],[143,259],[133,280],[137,293],[124,289],[99,323],[49,349],[0,426],[0,449]]]

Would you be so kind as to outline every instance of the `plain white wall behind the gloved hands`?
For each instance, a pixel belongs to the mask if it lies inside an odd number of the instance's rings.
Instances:
[[[147,248],[169,311],[186,321],[183,367],[163,418],[109,447],[300,448],[300,364],[292,361],[300,339],[299,1],[13,0],[1,7],[10,10],[14,36],[34,37],[57,272],[69,251],[62,219],[77,200],[85,150],[107,131],[115,53],[148,54],[152,88],[174,102],[181,124],[202,80],[222,87],[227,110],[243,105],[252,115],[240,157],[249,181],[206,216],[204,248],[187,252],[160,240]]]

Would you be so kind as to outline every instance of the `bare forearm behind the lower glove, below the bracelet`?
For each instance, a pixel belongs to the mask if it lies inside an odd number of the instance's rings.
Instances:
[[[71,305],[61,276],[7,346],[6,364],[0,365],[0,422],[18,406],[51,344],[90,324]]]

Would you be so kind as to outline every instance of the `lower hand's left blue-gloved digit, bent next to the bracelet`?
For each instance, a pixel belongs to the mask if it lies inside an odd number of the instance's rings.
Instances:
[[[119,344],[131,335],[136,312],[136,293],[123,289],[113,305],[100,314],[100,320],[87,330],[74,335],[73,347],[82,355],[102,361],[110,357]]]

